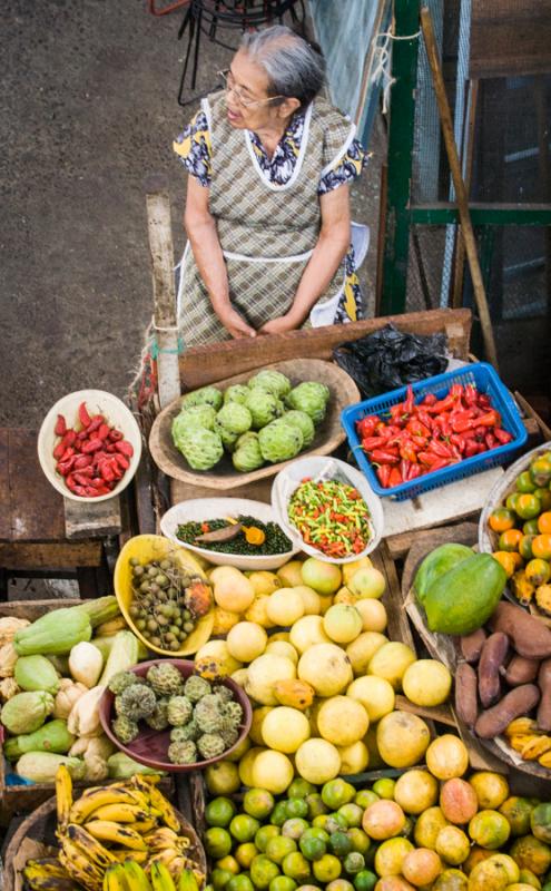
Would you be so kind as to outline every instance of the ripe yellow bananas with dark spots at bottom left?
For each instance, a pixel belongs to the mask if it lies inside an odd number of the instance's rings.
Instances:
[[[205,877],[188,856],[189,840],[180,834],[177,812],[156,787],[158,780],[136,774],[125,782],[88,789],[73,801],[71,777],[60,766],[56,776],[59,860],[27,863],[30,891],[77,891],[79,885],[86,891],[151,891],[151,884],[152,891],[198,891]],[[193,883],[188,877],[187,883],[175,888],[174,882],[188,872]]]

